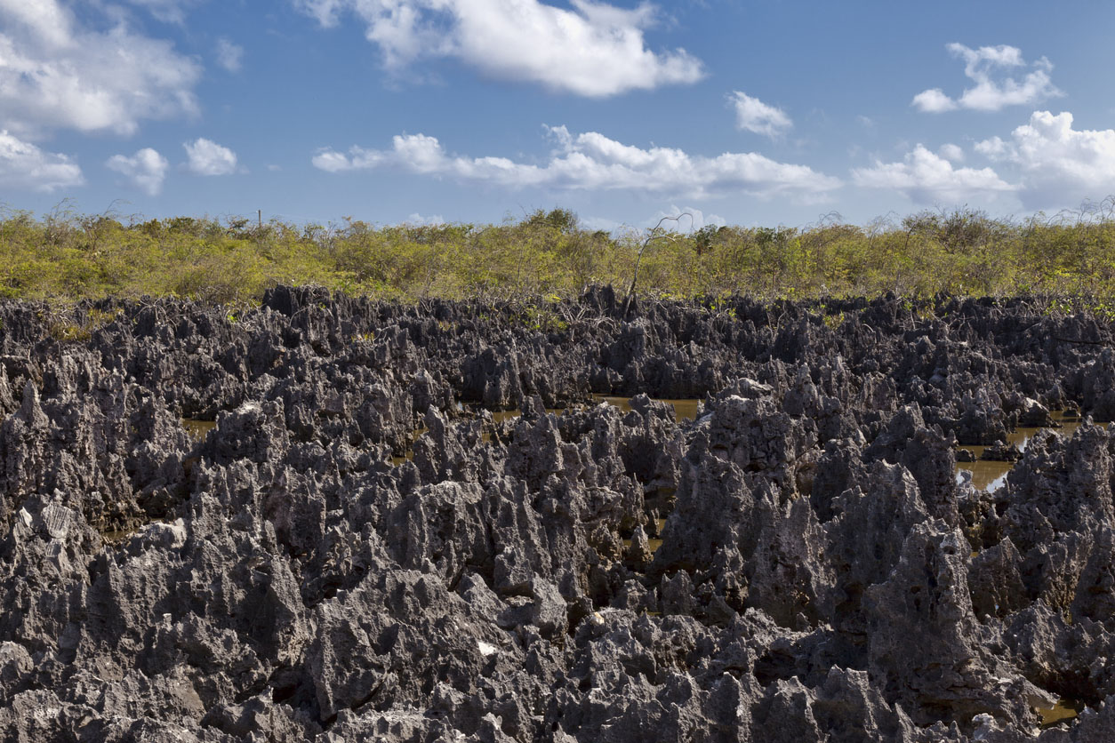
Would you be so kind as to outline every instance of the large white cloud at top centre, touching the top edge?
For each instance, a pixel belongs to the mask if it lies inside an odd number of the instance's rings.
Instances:
[[[539,0],[293,2],[323,27],[355,13],[392,71],[421,58],[454,58],[495,78],[595,98],[704,77],[686,50],[647,48],[643,32],[657,11],[646,2],[631,10],[591,0],[571,0],[571,9]]]

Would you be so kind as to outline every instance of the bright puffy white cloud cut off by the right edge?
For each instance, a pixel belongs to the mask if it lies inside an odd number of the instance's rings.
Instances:
[[[991,137],[976,151],[1022,173],[1024,203],[1068,206],[1082,197],[1115,193],[1115,129],[1074,129],[1073,115],[1034,111],[1010,141]]]

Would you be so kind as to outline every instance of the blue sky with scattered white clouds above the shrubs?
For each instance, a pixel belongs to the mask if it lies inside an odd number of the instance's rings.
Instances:
[[[1113,28],[1108,0],[0,0],[0,205],[1055,215],[1115,195]]]

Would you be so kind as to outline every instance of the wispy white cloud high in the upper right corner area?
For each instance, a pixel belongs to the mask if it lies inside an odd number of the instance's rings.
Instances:
[[[1028,106],[1047,98],[1065,95],[1049,77],[1053,63],[1041,57],[1027,65],[1017,47],[1001,45],[970,49],[962,43],[950,43],[949,52],[964,61],[964,76],[976,85],[957,99],[950,98],[940,88],[922,90],[913,97],[911,105],[930,114],[969,108],[981,111],[997,111],[1007,106]],[[1021,79],[1009,74],[1029,67]]]

